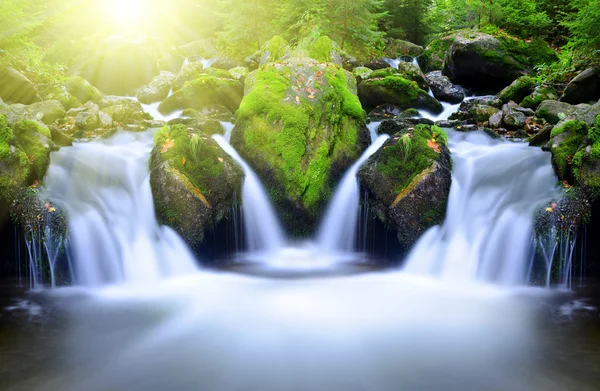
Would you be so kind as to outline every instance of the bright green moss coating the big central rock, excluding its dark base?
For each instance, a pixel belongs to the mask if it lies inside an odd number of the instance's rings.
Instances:
[[[342,68],[300,69],[259,69],[237,112],[237,126],[244,129],[249,160],[275,169],[276,182],[285,187],[285,194],[271,188],[274,198],[298,201],[316,213],[331,192],[332,163],[358,155],[357,124],[365,120],[365,112]],[[310,84],[317,82],[324,87]]]

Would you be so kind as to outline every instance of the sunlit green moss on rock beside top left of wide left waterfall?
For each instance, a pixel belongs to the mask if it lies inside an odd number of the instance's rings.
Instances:
[[[42,179],[50,165],[50,130],[38,122],[25,120],[13,126],[17,145],[25,151],[36,179]]]

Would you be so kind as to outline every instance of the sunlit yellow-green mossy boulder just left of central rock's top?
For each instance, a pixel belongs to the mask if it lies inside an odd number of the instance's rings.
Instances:
[[[242,101],[243,93],[244,87],[237,80],[201,75],[197,79],[186,82],[180,90],[162,101],[158,110],[168,114],[188,108],[202,110],[218,104],[235,112]]]

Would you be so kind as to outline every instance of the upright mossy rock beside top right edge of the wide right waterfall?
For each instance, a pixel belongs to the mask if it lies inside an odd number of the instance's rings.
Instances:
[[[573,183],[571,162],[575,153],[582,147],[587,136],[585,122],[567,120],[559,123],[550,133],[552,166],[560,180]]]

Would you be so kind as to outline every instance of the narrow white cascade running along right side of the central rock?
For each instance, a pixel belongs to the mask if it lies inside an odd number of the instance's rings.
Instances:
[[[378,123],[371,123],[371,137],[376,133]],[[362,156],[344,174],[335,194],[331,198],[325,218],[319,227],[317,243],[327,253],[354,251],[356,226],[359,216],[360,187],[358,170],[389,138],[387,134],[378,136]]]

